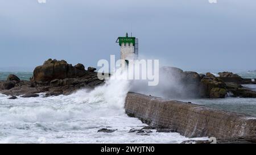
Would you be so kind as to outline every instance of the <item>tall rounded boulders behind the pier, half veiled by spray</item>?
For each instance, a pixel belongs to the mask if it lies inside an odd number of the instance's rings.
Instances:
[[[161,78],[164,76],[164,78]],[[196,72],[183,72],[179,68],[163,67],[159,74],[160,82],[171,83],[170,87],[160,87],[167,89],[164,91],[174,94],[175,97],[202,97],[202,98],[224,98],[227,94],[225,82],[216,78],[213,74],[199,74]],[[170,82],[168,82],[170,80]],[[159,83],[160,83],[159,82]],[[175,87],[176,86],[176,87]],[[170,91],[170,90],[171,91]],[[170,95],[170,97],[172,97]]]

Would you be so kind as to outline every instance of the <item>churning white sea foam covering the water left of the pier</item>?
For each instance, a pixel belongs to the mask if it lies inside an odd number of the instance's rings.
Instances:
[[[118,71],[118,76],[126,76]],[[0,143],[181,143],[179,133],[128,133],[142,128],[123,109],[129,81],[110,80],[93,91],[44,98],[7,99],[0,94]],[[98,129],[118,129],[113,133]],[[206,139],[206,138],[200,138]]]

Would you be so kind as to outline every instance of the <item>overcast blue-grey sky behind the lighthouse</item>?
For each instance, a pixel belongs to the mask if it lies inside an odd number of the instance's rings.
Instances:
[[[133,32],[139,55],[197,72],[256,69],[255,0],[0,0],[0,68],[97,66]]]

